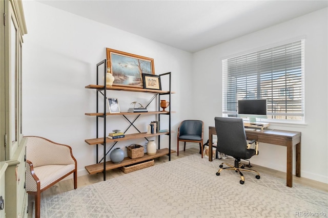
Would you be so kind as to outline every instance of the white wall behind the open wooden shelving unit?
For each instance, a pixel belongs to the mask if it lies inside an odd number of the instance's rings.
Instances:
[[[85,115],[96,112],[96,91],[85,86],[96,83],[96,63],[106,59],[106,48],[154,58],[155,74],[172,72],[172,90],[177,93],[171,100],[172,110],[177,112],[172,115],[173,130],[191,115],[192,102],[185,96],[190,93],[192,54],[42,3],[24,1],[23,5],[28,27],[23,45],[23,133],[72,146],[78,176],[96,161],[95,146],[85,143],[96,137],[96,118]],[[168,90],[165,81],[162,85]],[[108,95],[118,98],[121,111],[127,111],[133,101],[146,104],[152,97],[119,91]],[[121,116],[107,119],[111,121],[108,131],[128,126]],[[146,132],[146,125],[154,119],[154,115],[144,115],[135,125]],[[166,118],[161,119],[165,122]],[[168,147],[168,137],[161,138],[161,148]],[[144,144],[145,139],[118,146],[132,143]],[[176,149],[176,134],[172,135],[172,149]]]

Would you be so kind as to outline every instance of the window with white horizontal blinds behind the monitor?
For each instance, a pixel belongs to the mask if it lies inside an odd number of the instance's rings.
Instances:
[[[223,114],[267,99],[268,119],[304,121],[304,40],[222,60]]]

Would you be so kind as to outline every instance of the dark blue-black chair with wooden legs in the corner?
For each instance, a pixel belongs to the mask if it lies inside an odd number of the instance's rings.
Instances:
[[[179,142],[197,142],[199,143],[199,154],[203,158],[203,132],[204,132],[204,122],[201,120],[183,120],[178,127],[178,156],[179,156]]]

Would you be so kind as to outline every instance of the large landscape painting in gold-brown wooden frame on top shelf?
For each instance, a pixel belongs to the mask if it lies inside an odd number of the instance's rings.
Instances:
[[[143,88],[142,73],[155,74],[154,59],[106,48],[116,86]]]

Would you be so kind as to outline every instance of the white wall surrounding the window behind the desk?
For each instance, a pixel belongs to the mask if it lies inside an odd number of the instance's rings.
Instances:
[[[195,53],[193,96],[198,103],[194,115],[206,126],[222,115],[222,59],[305,38],[306,124],[271,127],[301,132],[301,176],[328,183],[327,20],[326,8]],[[208,128],[204,134],[208,136]],[[285,147],[260,143],[259,149],[252,163],[286,171]]]

